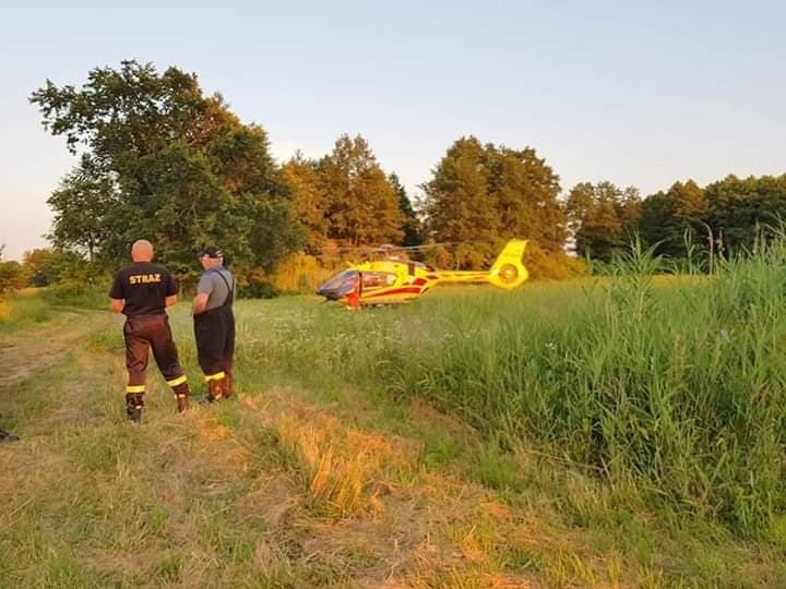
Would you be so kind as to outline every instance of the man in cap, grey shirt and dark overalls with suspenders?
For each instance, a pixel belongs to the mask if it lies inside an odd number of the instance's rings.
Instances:
[[[224,267],[224,252],[210,247],[200,253],[205,271],[193,300],[194,336],[202,372],[207,382],[207,400],[231,395],[235,356],[235,278]]]

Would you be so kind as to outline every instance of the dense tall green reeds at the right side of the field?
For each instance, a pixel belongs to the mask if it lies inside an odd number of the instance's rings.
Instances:
[[[440,345],[400,347],[392,378],[655,504],[784,541],[784,253],[660,286],[636,250],[559,316],[456,302],[429,313]]]

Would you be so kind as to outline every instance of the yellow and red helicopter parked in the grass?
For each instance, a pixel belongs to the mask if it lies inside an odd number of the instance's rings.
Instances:
[[[338,301],[349,309],[364,305],[401,304],[445,283],[488,283],[507,290],[523,284],[529,273],[522,263],[526,240],[513,239],[488,271],[438,271],[421,262],[392,255],[400,248],[383,247],[382,260],[364,262],[332,276],[317,289],[327,301]]]

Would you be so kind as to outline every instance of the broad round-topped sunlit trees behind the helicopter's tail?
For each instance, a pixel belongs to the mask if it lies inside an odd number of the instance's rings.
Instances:
[[[460,242],[458,267],[480,267],[510,238],[524,238],[548,252],[564,241],[559,178],[535,151],[473,137],[457,140],[422,184],[427,231],[436,241]]]

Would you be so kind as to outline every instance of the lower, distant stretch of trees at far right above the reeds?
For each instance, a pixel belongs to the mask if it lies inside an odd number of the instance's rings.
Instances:
[[[583,182],[569,192],[565,211],[576,252],[603,262],[634,236],[655,255],[676,261],[745,254],[782,233],[786,175],[729,175],[704,188],[677,181],[643,200],[632,187]]]

